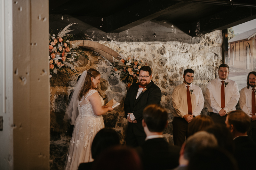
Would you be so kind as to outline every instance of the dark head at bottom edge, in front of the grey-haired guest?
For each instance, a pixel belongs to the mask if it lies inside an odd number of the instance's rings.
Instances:
[[[197,151],[188,163],[188,170],[238,170],[235,158],[220,148]]]

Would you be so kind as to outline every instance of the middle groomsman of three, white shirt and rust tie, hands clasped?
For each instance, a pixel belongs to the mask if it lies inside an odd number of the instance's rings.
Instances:
[[[215,123],[224,125],[228,112],[236,110],[240,96],[236,82],[228,79],[228,73],[228,65],[220,64],[219,78],[209,81],[205,92],[210,116]]]

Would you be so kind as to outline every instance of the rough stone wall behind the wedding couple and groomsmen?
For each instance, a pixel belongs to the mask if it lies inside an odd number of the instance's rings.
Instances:
[[[194,84],[202,88],[205,94],[209,80],[217,78],[217,69],[222,59],[222,33],[214,31],[194,39],[195,43],[178,41],[167,42],[117,42],[98,41],[112,48],[125,57],[137,56],[144,60],[152,68],[152,80],[162,91],[161,105],[168,111],[168,127],[164,130],[164,138],[173,143],[172,120],[174,109],[171,95],[176,85],[183,82],[182,74],[187,68],[195,71]],[[125,129],[128,121],[124,115],[124,98],[127,93],[126,85],[119,81],[118,77],[108,78],[111,64],[99,54],[86,50],[89,61],[79,58],[78,71],[94,68],[101,73],[101,83],[98,90],[101,92],[105,103],[111,99],[120,102],[121,105],[114,111],[103,115],[106,127],[114,128],[122,144],[125,142]],[[68,95],[76,84],[76,77],[59,72],[50,79],[51,83],[51,169],[63,169],[68,144],[70,141],[69,125],[63,121],[65,109],[68,103]],[[207,114],[207,104],[204,103],[202,114]]]

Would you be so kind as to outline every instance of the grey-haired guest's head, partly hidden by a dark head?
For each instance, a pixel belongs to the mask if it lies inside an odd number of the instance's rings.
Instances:
[[[193,157],[193,154],[200,149],[217,146],[218,142],[214,135],[205,131],[196,132],[194,135],[188,137],[187,143],[182,145],[179,159],[180,165],[175,168],[175,170],[187,169],[188,163]]]

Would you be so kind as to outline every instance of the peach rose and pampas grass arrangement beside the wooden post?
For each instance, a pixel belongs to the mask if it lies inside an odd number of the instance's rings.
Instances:
[[[49,66],[50,66],[50,78],[52,74],[58,73],[58,70],[65,70],[68,73],[70,69],[73,73],[76,73],[77,60],[80,55],[84,55],[81,48],[70,44],[70,41],[74,40],[72,34],[68,34],[71,31],[69,27],[76,23],[69,24],[63,30],[57,34],[49,33]],[[88,58],[87,55],[84,55]]]

